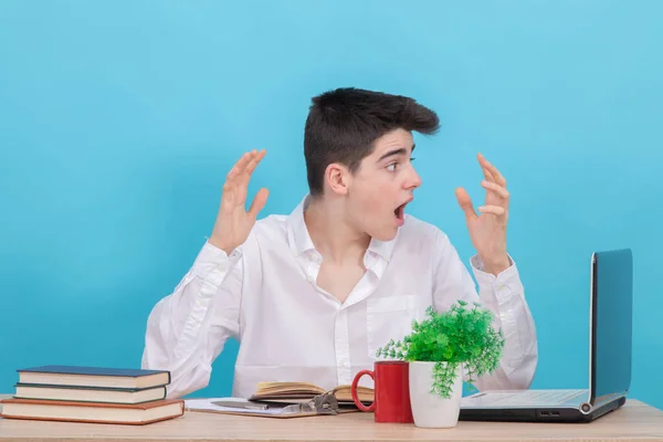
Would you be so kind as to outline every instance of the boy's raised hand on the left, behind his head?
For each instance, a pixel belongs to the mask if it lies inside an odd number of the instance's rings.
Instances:
[[[260,189],[246,211],[249,180],[264,156],[264,149],[244,154],[225,177],[219,214],[209,242],[228,254],[246,241],[257,213],[267,202],[270,192]]]

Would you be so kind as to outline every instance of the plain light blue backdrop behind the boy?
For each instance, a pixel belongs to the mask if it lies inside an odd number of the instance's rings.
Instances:
[[[663,407],[662,20],[660,1],[2,1],[0,391],[27,366],[139,366],[234,160],[266,148],[251,192],[290,212],[309,98],[352,85],[439,113],[411,213],[464,260],[453,190],[480,202],[477,151],[506,176],[533,387],[587,387],[590,253],[633,249],[631,397]],[[197,396],[230,393],[235,354]]]

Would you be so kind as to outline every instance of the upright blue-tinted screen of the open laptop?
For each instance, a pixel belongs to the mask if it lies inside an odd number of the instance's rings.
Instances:
[[[592,265],[591,401],[631,387],[633,255],[597,252]]]

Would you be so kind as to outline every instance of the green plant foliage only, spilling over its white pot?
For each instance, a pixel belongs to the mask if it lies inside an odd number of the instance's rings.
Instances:
[[[390,339],[377,356],[406,361],[436,362],[433,368],[432,393],[451,397],[457,367],[467,370],[472,383],[484,373],[495,371],[502,358],[504,336],[492,326],[493,314],[474,303],[459,301],[446,312],[429,307],[425,318],[412,323],[412,333],[402,340]]]

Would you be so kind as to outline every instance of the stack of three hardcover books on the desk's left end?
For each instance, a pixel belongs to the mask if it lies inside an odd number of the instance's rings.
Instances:
[[[7,419],[146,424],[185,413],[183,400],[166,399],[169,371],[77,366],[17,371],[13,398],[0,401]]]

